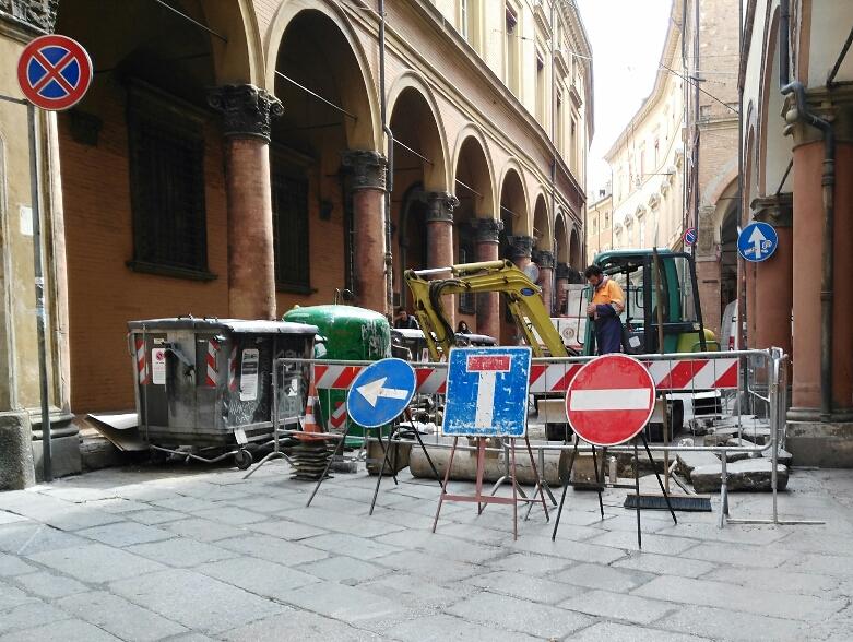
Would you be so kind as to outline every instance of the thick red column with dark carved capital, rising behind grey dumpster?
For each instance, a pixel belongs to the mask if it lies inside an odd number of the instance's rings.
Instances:
[[[223,114],[228,311],[237,319],[274,319],[270,121],[284,108],[253,85],[216,87],[208,99]]]

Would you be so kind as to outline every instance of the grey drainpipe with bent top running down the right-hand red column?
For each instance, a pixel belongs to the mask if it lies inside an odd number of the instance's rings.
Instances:
[[[836,134],[829,121],[811,114],[806,105],[803,83],[794,81],[782,87],[782,94],[796,98],[795,121],[819,129],[824,134],[824,266],[820,276],[820,419],[828,421],[832,412],[832,292],[834,281],[834,248],[832,235],[836,226]]]

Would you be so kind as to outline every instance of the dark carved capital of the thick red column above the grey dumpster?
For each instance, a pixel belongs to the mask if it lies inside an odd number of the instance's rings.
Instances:
[[[223,114],[223,135],[261,139],[266,143],[272,119],[284,114],[279,98],[254,85],[214,87],[208,93],[208,104]]]

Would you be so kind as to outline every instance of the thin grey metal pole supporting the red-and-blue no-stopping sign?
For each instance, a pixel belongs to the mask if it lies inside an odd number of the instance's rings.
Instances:
[[[54,480],[50,409],[47,391],[47,350],[45,346],[45,277],[42,266],[42,215],[38,206],[38,144],[36,140],[36,108],[26,106],[29,131],[29,199],[33,217],[33,272],[36,286],[36,342],[38,344],[38,391],[42,397],[42,465],[45,482]]]

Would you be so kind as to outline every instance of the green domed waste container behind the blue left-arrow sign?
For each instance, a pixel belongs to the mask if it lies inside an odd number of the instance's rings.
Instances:
[[[315,358],[345,361],[378,361],[391,356],[391,326],[383,314],[355,306],[308,306],[294,308],[283,321],[316,325]],[[320,416],[327,429],[350,427],[346,445],[362,444],[364,428],[346,417],[346,425],[332,426],[330,418],[346,401],[343,390],[320,390]],[[387,435],[383,428],[383,435]]]

